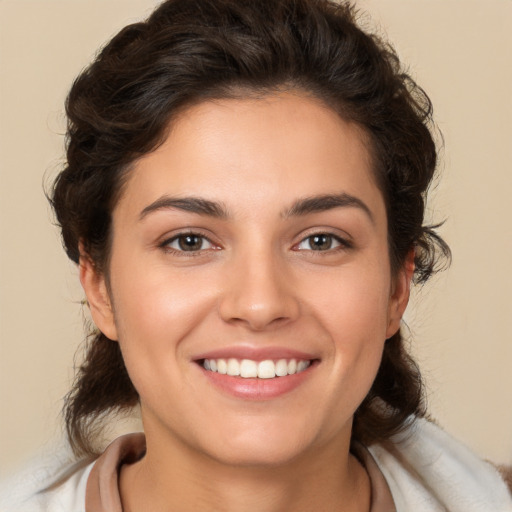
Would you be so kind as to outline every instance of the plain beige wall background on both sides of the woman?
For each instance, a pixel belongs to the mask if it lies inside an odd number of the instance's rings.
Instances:
[[[152,0],[0,0],[0,474],[59,432],[82,298],[42,193],[63,99],[98,46]],[[433,416],[512,462],[512,1],[360,0],[430,94],[445,136],[433,218],[451,270],[408,310]]]

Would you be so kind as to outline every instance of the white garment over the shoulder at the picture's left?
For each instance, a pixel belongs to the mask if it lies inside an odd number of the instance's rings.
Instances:
[[[76,460],[65,443],[55,445],[0,483],[0,510],[84,512],[93,465],[90,460]]]

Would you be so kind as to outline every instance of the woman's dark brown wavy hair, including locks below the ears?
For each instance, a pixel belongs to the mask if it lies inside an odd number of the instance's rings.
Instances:
[[[426,281],[450,255],[437,226],[424,225],[437,160],[431,103],[357,18],[353,5],[331,0],[168,0],[121,30],[66,103],[67,163],[49,195],[68,256],[78,263],[80,241],[108,278],[111,216],[130,164],[163,142],[179,112],[289,89],[364,130],[387,208],[392,271],[415,249],[415,279]],[[425,414],[422,397],[398,332],[356,411],[353,440],[369,444],[403,430],[411,415]],[[93,454],[105,416],[138,401],[119,344],[93,332],[64,407],[75,452]]]

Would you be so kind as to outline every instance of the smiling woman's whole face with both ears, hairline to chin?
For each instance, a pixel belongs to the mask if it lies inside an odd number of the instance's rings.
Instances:
[[[230,464],[348,445],[410,277],[391,276],[363,134],[291,93],[176,120],[130,171],[109,271],[107,290],[83,258],[148,453],[167,443]]]

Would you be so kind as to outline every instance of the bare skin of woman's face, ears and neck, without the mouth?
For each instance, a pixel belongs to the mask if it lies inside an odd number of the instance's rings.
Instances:
[[[355,202],[293,211],[327,194]],[[225,215],[158,207],[169,197],[214,201]],[[180,251],[176,236],[191,231],[205,237],[200,250]],[[331,247],[313,250],[315,234],[332,235]],[[140,394],[147,454],[121,472],[125,510],[369,510],[352,418],[399,329],[411,273],[391,274],[357,126],[290,92],[189,108],[131,170],[109,286],[81,258],[93,319],[119,341]],[[224,393],[195,361],[276,346],[316,364],[271,399]]]

